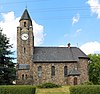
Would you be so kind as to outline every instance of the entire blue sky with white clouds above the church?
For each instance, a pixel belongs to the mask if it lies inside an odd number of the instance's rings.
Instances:
[[[0,27],[13,44],[19,19],[27,8],[35,46],[79,47],[100,53],[100,0],[0,0]]]

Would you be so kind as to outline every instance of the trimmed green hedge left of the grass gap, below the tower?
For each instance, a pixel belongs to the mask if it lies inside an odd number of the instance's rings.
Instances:
[[[0,86],[0,94],[35,94],[33,86]]]

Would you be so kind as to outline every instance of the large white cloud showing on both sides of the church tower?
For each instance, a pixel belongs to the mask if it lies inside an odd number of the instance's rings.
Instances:
[[[3,33],[10,38],[10,43],[14,45],[13,49],[16,50],[17,27],[19,26],[20,17],[16,18],[14,12],[1,13],[1,17],[3,19],[0,21],[0,27],[3,28]],[[35,45],[42,44],[44,40],[43,26],[37,24],[33,20],[33,30],[35,36]]]

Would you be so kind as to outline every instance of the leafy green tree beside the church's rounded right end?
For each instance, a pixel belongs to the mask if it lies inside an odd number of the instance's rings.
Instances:
[[[100,85],[100,54],[90,54],[89,58],[89,80]]]

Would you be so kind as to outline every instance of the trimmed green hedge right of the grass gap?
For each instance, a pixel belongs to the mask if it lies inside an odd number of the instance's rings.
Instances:
[[[71,86],[70,94],[100,94],[99,85]]]

